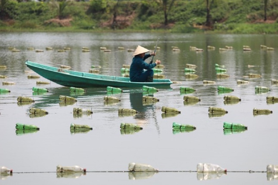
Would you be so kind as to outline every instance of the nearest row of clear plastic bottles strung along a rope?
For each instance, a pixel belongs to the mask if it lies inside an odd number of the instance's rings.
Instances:
[[[74,166],[56,166],[56,175],[57,178],[78,178],[82,175],[86,175],[88,171],[86,168],[80,167],[78,165]],[[91,171],[91,172],[100,172],[100,171]],[[105,172],[116,172],[116,171],[105,171]],[[117,171],[120,172],[120,171]],[[168,172],[168,171],[160,171],[149,164],[143,163],[129,163],[127,171],[130,180],[136,179],[146,179],[150,178],[158,172]],[[227,169],[222,168],[218,164],[211,163],[198,163],[196,167],[196,171],[187,170],[187,171],[171,171],[171,172],[197,172],[197,180],[210,180],[210,179],[219,179],[222,175],[227,175]],[[240,171],[238,171],[240,172]],[[242,172],[242,171],[241,171]],[[247,172],[247,171],[246,171]],[[252,170],[248,171],[253,172]],[[278,165],[268,164],[266,166],[266,171],[261,171],[267,173],[267,180],[273,181],[278,179]],[[22,173],[22,172],[13,172],[13,169],[9,169],[6,166],[0,166],[0,178],[6,179],[8,176],[12,176],[13,173]],[[29,172],[32,173],[32,172]],[[35,172],[34,172],[35,173]],[[41,172],[43,173],[43,172]],[[46,173],[46,172],[45,172]]]

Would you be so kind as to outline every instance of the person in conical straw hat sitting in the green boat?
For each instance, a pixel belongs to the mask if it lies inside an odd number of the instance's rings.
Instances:
[[[133,53],[132,63],[129,69],[129,78],[132,82],[152,82],[154,72],[152,68],[160,64],[160,60],[156,60],[155,63],[148,64],[145,62],[150,56],[155,56],[155,53],[146,54],[148,49],[138,46]]]

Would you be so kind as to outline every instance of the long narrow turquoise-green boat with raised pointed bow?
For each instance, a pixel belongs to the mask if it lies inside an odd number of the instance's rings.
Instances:
[[[169,79],[153,79],[153,82],[131,82],[129,77],[100,75],[94,73],[78,72],[61,69],[29,60],[25,61],[27,67],[42,77],[66,87],[170,87]]]

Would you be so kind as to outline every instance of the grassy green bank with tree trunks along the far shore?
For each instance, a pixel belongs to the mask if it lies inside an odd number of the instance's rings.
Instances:
[[[278,0],[1,0],[0,31],[277,34]]]

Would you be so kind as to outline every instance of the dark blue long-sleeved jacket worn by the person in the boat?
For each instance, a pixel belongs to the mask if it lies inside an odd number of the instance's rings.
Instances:
[[[155,63],[148,64],[145,62],[147,58],[149,58],[151,55],[146,54],[143,58],[140,58],[139,56],[135,56],[132,59],[132,63],[130,65],[129,69],[129,78],[130,81],[138,81],[140,78],[140,75],[144,72],[145,70],[152,69],[156,66]]]

